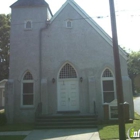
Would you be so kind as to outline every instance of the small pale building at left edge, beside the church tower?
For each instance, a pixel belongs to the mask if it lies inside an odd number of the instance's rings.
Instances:
[[[5,84],[7,80],[4,79],[0,81],[0,109],[3,109],[5,106]]]

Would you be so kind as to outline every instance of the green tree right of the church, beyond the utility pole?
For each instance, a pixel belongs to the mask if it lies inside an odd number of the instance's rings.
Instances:
[[[131,52],[128,56],[128,74],[132,80],[132,91],[135,93],[134,79],[140,74],[140,51]]]

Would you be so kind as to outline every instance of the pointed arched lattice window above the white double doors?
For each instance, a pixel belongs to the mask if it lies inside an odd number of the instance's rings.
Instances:
[[[69,64],[65,64],[59,73],[59,79],[77,78],[75,69]]]

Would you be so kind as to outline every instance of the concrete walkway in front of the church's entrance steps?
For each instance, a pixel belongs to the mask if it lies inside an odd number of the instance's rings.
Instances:
[[[97,129],[33,130],[24,140],[100,140]]]

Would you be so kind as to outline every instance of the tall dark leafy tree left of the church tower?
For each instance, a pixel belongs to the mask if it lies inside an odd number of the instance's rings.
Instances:
[[[9,75],[10,14],[0,14],[0,80]]]

